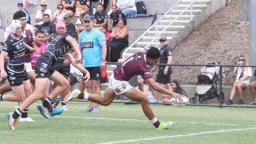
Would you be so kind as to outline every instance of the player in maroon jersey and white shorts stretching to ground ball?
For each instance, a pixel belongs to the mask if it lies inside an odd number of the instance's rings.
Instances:
[[[67,103],[71,100],[79,98],[107,106],[115,99],[116,95],[122,94],[127,98],[140,103],[144,114],[157,129],[168,129],[173,122],[159,122],[148,104],[148,99],[141,94],[141,92],[138,92],[134,87],[132,87],[128,82],[132,76],[141,74],[152,89],[163,94],[171,95],[173,98],[182,102],[181,94],[177,94],[171,90],[161,87],[159,83],[156,83],[152,78],[147,64],[152,66],[153,64],[158,63],[159,58],[160,51],[158,48],[153,46],[151,46],[146,53],[137,52],[126,59],[121,66],[113,70],[113,74],[109,79],[109,87],[106,89],[103,98],[98,94],[83,93],[80,92],[80,90],[75,89],[65,97],[63,102]]]

